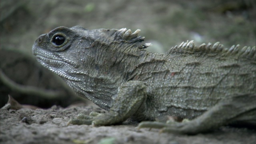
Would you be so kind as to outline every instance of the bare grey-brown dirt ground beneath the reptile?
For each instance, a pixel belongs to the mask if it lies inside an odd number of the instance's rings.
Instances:
[[[136,122],[116,126],[69,125],[79,113],[103,112],[95,106],[30,110],[0,110],[1,144],[255,144],[256,132],[245,128],[222,127],[194,136],[138,130]],[[108,143],[110,142],[110,143]]]

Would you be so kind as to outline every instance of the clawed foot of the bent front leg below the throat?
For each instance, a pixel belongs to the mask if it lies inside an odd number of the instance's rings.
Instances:
[[[97,118],[100,115],[102,115],[102,114],[100,114],[98,112],[91,112],[89,114],[89,116],[86,115],[86,114],[78,114],[76,118],[73,118],[73,119],[69,120],[67,125],[70,125],[70,124],[76,124],[76,125],[86,124],[86,125],[91,125],[92,121],[95,120],[95,118]]]

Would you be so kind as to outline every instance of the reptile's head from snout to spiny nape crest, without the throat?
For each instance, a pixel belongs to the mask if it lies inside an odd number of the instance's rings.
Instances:
[[[140,30],[136,30],[132,33],[126,28],[86,30],[80,26],[72,28],[60,26],[39,36],[33,45],[32,52],[46,68],[51,69],[65,64],[77,68],[85,54],[96,52],[103,47],[102,45],[105,48],[139,49],[150,46],[151,44],[142,43],[144,37],[138,37],[139,32]]]

